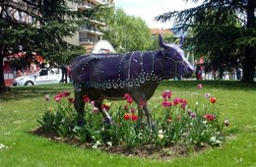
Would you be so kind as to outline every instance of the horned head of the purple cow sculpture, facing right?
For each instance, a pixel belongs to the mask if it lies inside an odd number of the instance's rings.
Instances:
[[[180,48],[182,42],[181,39],[178,45],[174,43],[167,44],[163,42],[160,35],[160,47],[163,48],[162,68],[166,76],[187,78],[193,74],[193,67],[186,60],[184,52]]]

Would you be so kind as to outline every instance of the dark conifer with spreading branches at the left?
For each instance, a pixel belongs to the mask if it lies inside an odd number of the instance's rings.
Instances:
[[[73,0],[74,1],[74,0]],[[72,0],[1,0],[0,2],[0,93],[4,91],[3,58],[10,54],[32,52],[54,60],[67,61],[70,55],[81,53],[80,46],[67,43],[63,38],[77,32],[85,19],[94,18],[96,9],[74,11],[68,8]],[[100,10],[98,10],[100,11]],[[20,22],[15,15],[31,18]],[[65,54],[63,54],[65,53]],[[61,57],[59,57],[61,56]],[[67,56],[64,58],[64,56]]]

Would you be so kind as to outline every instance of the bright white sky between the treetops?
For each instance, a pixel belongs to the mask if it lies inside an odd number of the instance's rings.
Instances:
[[[199,0],[200,4],[202,0]],[[156,16],[169,11],[195,7],[198,4],[184,0],[115,0],[115,7],[122,8],[126,14],[142,18],[150,28],[172,28],[173,22],[154,21]]]

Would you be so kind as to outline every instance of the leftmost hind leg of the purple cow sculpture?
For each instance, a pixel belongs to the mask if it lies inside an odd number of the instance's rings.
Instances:
[[[85,102],[83,101],[83,96],[84,93],[82,93],[82,91],[77,92],[75,91],[75,109],[78,112],[78,116],[79,116],[79,120],[78,120],[78,124],[80,126],[84,126],[85,125]]]

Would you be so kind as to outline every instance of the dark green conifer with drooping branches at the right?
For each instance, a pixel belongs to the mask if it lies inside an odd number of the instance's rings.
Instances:
[[[211,55],[211,61],[219,67],[237,64],[237,59],[241,60],[242,82],[253,83],[256,66],[255,9],[255,0],[204,0],[198,7],[165,13],[157,20],[174,19],[176,27],[193,28],[193,43],[198,52]]]

